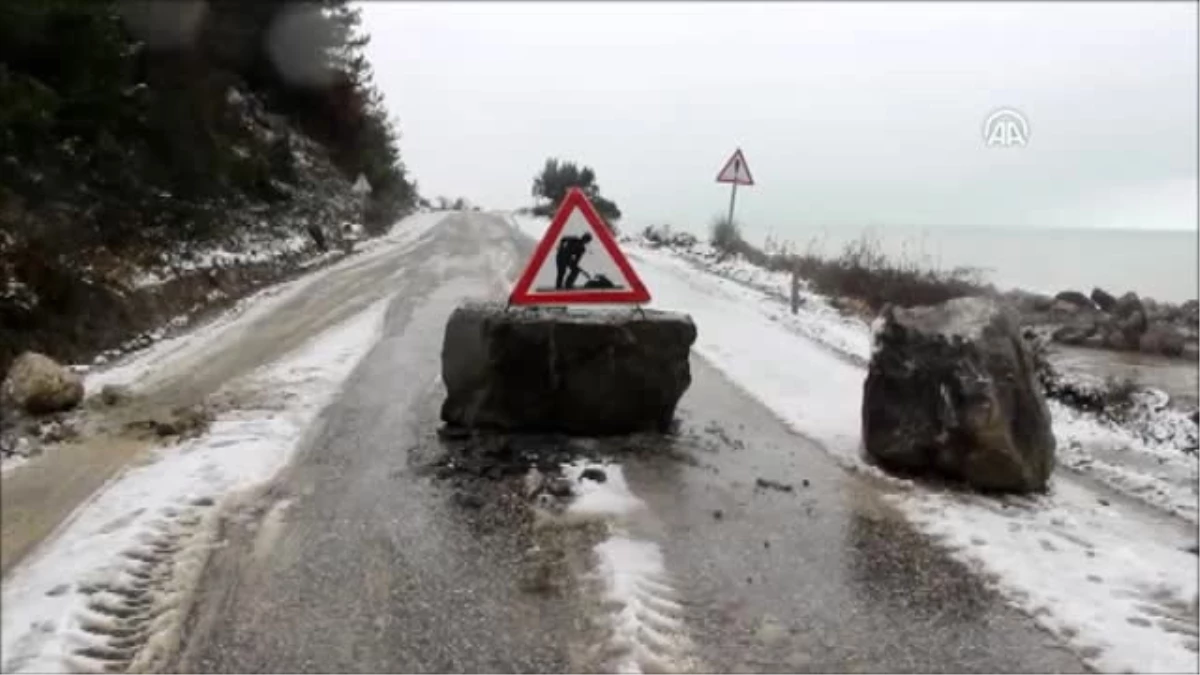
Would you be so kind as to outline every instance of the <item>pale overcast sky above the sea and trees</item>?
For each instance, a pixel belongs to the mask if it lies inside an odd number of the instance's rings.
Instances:
[[[1194,2],[365,2],[426,196],[528,204],[547,156],[629,223],[1196,228]],[[1002,107],[1024,148],[989,148]]]

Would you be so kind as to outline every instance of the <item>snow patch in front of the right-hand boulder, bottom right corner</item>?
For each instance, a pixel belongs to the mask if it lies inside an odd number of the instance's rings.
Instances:
[[[1186,528],[1061,478],[1030,500],[912,490],[896,501],[1093,668],[1196,671],[1200,589],[1196,556],[1181,550]]]

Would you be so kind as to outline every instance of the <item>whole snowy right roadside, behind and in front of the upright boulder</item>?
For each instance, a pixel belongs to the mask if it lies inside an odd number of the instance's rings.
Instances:
[[[812,325],[828,322],[820,310],[793,316],[772,294],[707,274],[671,251],[630,244],[625,250],[653,305],[696,321],[701,356],[797,432],[844,465],[863,468],[859,401],[869,327],[860,328],[862,339],[844,339],[845,324]],[[829,335],[838,338],[826,344],[822,336]],[[1114,438],[1109,431],[1056,414],[1055,434],[1067,447],[1078,440],[1093,453],[1097,438]],[[1170,461],[1195,476],[1195,458],[1177,452]],[[1062,472],[1049,495],[1000,502],[907,485],[889,498],[911,521],[995,579],[1009,602],[1090,664],[1195,671],[1198,558],[1184,550],[1195,545],[1195,534],[1181,521],[1109,503]],[[1195,498],[1180,491],[1175,497]]]

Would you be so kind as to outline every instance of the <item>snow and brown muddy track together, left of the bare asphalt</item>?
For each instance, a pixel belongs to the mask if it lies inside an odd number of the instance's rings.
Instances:
[[[218,545],[221,507],[287,465],[378,340],[389,300],[451,275],[452,259],[431,253],[464,227],[452,215],[413,216],[352,258],[90,375],[90,390],[132,384],[134,400],[97,411],[82,443],[4,474],[0,668],[80,670],[134,653],[145,662],[136,665],[152,665],[172,651],[194,573]],[[504,286],[520,263],[512,246],[468,240],[493,291]],[[205,400],[216,419],[198,438],[125,429]]]

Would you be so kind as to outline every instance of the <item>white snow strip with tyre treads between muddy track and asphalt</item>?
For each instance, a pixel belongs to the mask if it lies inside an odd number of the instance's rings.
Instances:
[[[106,634],[130,628],[113,611],[128,603],[130,593],[144,593],[149,614],[163,610],[139,645],[140,658],[166,651],[178,639],[194,575],[215,545],[214,518],[222,501],[286,465],[305,430],[378,340],[385,310],[382,300],[281,362],[229,383],[264,393],[265,400],[220,416],[199,438],[156,450],[149,464],[110,483],[12,571],[0,596],[0,670],[103,667],[103,661],[79,655],[88,650],[132,656],[133,650],[115,646]],[[287,399],[272,400],[270,394],[280,392]],[[146,575],[155,579],[149,590],[138,584]]]

